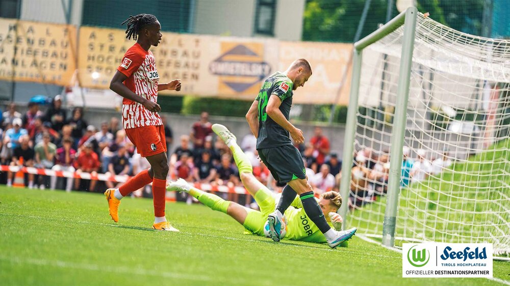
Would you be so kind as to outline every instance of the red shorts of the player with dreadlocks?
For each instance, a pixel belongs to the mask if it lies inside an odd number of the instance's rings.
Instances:
[[[127,138],[135,145],[142,157],[166,152],[165,128],[163,125],[142,126],[125,129]]]

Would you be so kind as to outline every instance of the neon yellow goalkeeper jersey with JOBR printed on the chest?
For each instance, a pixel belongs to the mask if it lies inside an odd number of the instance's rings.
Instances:
[[[304,211],[299,196],[296,196],[291,206],[285,211],[285,216],[287,217],[287,234],[284,239],[326,243],[324,235]]]

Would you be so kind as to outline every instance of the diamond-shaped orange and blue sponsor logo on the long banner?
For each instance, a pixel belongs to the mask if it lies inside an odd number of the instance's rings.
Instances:
[[[264,62],[264,45],[223,42],[221,51],[222,54],[209,64],[209,72],[219,76],[220,92],[257,93],[258,83],[271,72],[271,66]]]

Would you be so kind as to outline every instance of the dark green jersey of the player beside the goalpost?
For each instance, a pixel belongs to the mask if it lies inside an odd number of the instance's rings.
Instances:
[[[257,149],[273,148],[292,145],[289,132],[274,122],[266,113],[266,106],[270,96],[277,96],[282,104],[279,109],[289,120],[292,106],[292,80],[281,72],[275,72],[262,85],[257,101],[259,101],[259,136]]]

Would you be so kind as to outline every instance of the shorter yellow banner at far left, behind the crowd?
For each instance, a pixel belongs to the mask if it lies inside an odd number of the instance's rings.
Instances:
[[[0,79],[69,85],[76,28],[0,18]]]

